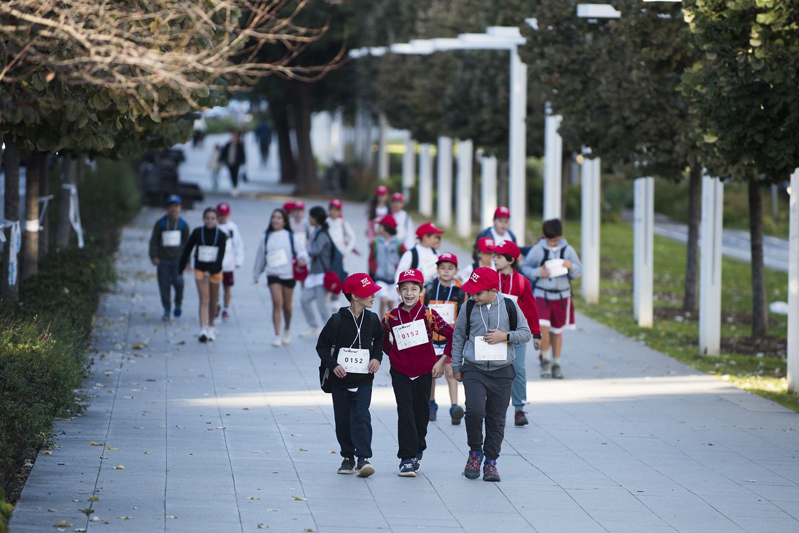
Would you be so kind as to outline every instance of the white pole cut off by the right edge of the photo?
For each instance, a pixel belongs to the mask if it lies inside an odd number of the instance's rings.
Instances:
[[[788,390],[799,392],[799,168],[791,175],[788,264]]]

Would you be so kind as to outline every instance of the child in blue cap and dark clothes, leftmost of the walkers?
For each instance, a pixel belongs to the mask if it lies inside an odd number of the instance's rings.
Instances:
[[[179,265],[181,251],[188,241],[189,224],[181,218],[181,197],[170,195],[166,199],[166,215],[156,220],[149,243],[150,261],[157,267],[158,291],[164,307],[161,319],[165,321],[172,314],[172,287],[175,287],[175,316],[183,312],[183,269]]]

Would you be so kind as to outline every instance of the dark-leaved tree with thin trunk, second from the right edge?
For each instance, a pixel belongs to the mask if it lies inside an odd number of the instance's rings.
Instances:
[[[702,160],[688,105],[677,87],[693,61],[674,6],[614,0],[619,19],[576,16],[578,0],[542,0],[538,30],[524,28],[521,49],[531,73],[562,114],[572,149],[588,146],[609,170],[627,177],[681,180],[690,168],[689,239],[683,306],[698,306],[698,226]]]

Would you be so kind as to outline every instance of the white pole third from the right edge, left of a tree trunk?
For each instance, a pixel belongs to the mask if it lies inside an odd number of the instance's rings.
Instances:
[[[654,277],[654,178],[634,182],[633,312],[638,326],[652,327]]]

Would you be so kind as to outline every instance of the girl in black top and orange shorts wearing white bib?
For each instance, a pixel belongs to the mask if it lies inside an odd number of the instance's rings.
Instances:
[[[194,251],[194,279],[200,295],[200,342],[214,341],[217,331],[213,329],[214,310],[219,300],[219,284],[222,282],[222,258],[225,257],[227,237],[217,227],[217,210],[207,207],[202,213],[203,225],[194,228],[189,241],[183,247],[181,272],[189,268],[189,255]],[[195,247],[197,248],[195,250]]]

